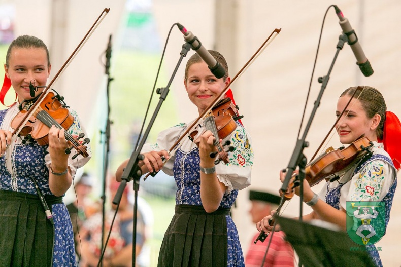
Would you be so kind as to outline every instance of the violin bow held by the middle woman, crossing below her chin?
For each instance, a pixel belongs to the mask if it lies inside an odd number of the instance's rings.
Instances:
[[[195,127],[195,125],[199,122],[200,119],[204,118],[204,116],[206,115],[206,113],[208,113],[213,106],[215,106],[217,104],[218,101],[220,101],[220,98],[223,94],[225,94],[230,85],[235,82],[237,80],[237,78],[239,78],[242,73],[250,66],[251,63],[253,63],[255,61],[255,59],[263,52],[263,50],[268,47],[270,45],[270,43],[272,43],[272,41],[276,38],[276,36],[280,33],[281,28],[280,29],[274,29],[273,32],[269,35],[269,37],[263,42],[263,44],[256,50],[256,52],[252,55],[252,57],[245,63],[245,65],[238,71],[238,73],[231,79],[231,81],[225,86],[224,90],[220,92],[220,94],[217,95],[217,97],[215,98],[215,100],[202,112],[200,113],[199,117],[193,121],[189,127],[187,127],[187,129],[180,135],[180,137],[177,139],[177,141],[171,146],[171,148],[168,150],[168,153],[170,155],[171,152],[177,150],[178,146],[177,144],[180,143],[180,141],[186,137],[189,133],[189,131],[191,131],[193,129],[193,127]],[[275,34],[276,33],[276,34]],[[177,146],[177,147],[176,147]],[[167,162],[167,160],[164,161],[163,164],[165,164],[165,162]],[[150,173],[148,173],[145,177],[144,180],[149,176]]]

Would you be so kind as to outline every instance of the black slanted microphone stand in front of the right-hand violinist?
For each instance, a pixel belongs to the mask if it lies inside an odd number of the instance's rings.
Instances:
[[[317,99],[316,99],[315,104],[313,106],[313,110],[311,112],[311,116],[309,118],[309,121],[308,121],[308,123],[307,123],[307,125],[305,127],[304,134],[303,134],[302,138],[298,139],[297,142],[296,142],[295,149],[294,149],[294,151],[292,153],[290,162],[288,164],[288,171],[286,172],[285,179],[284,179],[283,185],[281,187],[282,192],[286,192],[288,184],[289,184],[289,181],[290,181],[291,176],[292,176],[292,173],[296,169],[296,167],[298,166],[299,167],[298,181],[296,181],[296,183],[294,182],[294,184],[295,184],[294,187],[297,186],[296,184],[299,183],[299,185],[300,185],[299,220],[302,220],[302,204],[303,204],[303,198],[304,198],[303,182],[304,182],[304,179],[305,179],[305,166],[306,166],[306,162],[307,162],[306,157],[303,154],[303,150],[304,150],[305,147],[309,146],[309,143],[305,141],[306,135],[308,134],[308,131],[309,131],[309,128],[310,128],[310,126],[312,124],[312,120],[313,120],[313,118],[315,116],[316,110],[320,105],[320,100],[321,100],[321,98],[323,96],[323,92],[324,92],[324,89],[327,86],[328,80],[330,79],[330,73],[331,73],[331,70],[332,70],[332,68],[334,66],[334,63],[335,63],[336,59],[337,59],[337,56],[340,53],[340,50],[343,49],[344,43],[347,42],[347,41],[348,41],[348,37],[347,37],[346,34],[342,34],[342,35],[339,36],[339,42],[337,43],[336,55],[335,55],[335,57],[333,58],[333,60],[331,62],[331,65],[330,65],[330,68],[328,70],[328,73],[327,73],[326,76],[318,78],[318,82],[322,84],[322,86],[320,88],[319,95],[317,96]]]

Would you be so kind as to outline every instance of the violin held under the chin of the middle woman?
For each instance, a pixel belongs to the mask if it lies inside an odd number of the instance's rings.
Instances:
[[[229,146],[227,150],[224,150],[224,146],[230,145],[230,141],[227,140],[224,144],[220,144],[219,139],[224,139],[229,136],[237,128],[237,123],[239,119],[243,116],[238,115],[238,106],[232,103],[229,97],[220,100],[212,110],[204,117],[204,122],[202,124],[196,125],[195,129],[188,135],[188,138],[199,144],[200,135],[202,135],[206,130],[210,130],[216,137],[214,146],[216,147],[216,152],[211,152],[210,157],[216,158],[215,164],[223,161],[225,164],[229,162],[228,152],[233,151],[233,147]]]

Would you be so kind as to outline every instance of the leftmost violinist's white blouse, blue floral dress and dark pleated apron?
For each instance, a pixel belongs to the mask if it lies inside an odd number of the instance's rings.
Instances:
[[[19,112],[18,105],[0,111],[0,128],[13,131],[10,123]],[[74,123],[70,134],[79,135],[81,128],[77,113],[70,110]],[[68,166],[74,177],[77,168],[91,157],[71,158]],[[17,138],[4,156],[0,157],[0,266],[76,266],[74,236],[71,219],[61,197],[55,197],[49,189],[48,145],[36,142],[22,143]],[[45,217],[34,183],[48,202],[54,220],[53,227]],[[7,230],[7,231],[6,231]],[[52,251],[49,253],[48,251]],[[3,253],[4,252],[4,253]]]

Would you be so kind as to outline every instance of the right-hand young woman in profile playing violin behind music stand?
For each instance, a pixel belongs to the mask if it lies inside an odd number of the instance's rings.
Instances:
[[[337,117],[355,90],[356,87],[351,87],[341,94]],[[398,140],[401,125],[398,118],[386,109],[383,96],[377,89],[365,86],[362,91],[356,92],[336,125],[337,133],[342,144],[350,144],[364,135],[373,142],[369,148],[372,155],[358,161],[338,180],[327,182],[319,194],[314,193],[308,181],[304,180],[304,202],[313,209],[302,217],[304,221],[320,219],[337,224],[345,231],[347,201],[383,201],[387,226],[397,186],[397,169],[400,168],[401,147]],[[285,174],[281,172],[281,181],[284,178]],[[299,195],[299,186],[295,194]],[[269,225],[271,215],[256,223],[258,231],[272,230]],[[376,265],[382,266],[378,251],[369,249],[369,253]]]

